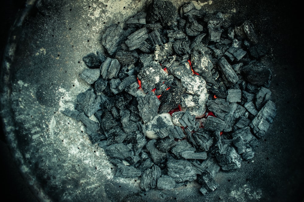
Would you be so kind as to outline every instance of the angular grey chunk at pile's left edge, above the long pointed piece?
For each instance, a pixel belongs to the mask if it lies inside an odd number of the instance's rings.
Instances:
[[[76,98],[75,109],[84,112],[88,117],[92,116],[97,110],[101,109],[100,96],[96,96],[92,88],[83,93],[79,93]]]

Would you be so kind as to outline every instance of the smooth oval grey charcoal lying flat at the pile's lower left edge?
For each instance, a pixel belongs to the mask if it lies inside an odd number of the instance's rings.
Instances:
[[[105,153],[112,158],[118,158],[120,160],[133,156],[131,148],[123,143],[111,144],[108,147],[105,147]]]

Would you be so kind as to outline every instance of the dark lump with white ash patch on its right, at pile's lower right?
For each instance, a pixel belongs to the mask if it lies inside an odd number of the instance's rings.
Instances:
[[[241,167],[242,158],[231,145],[232,140],[222,140],[223,152],[217,154],[216,159],[223,171],[230,171]]]

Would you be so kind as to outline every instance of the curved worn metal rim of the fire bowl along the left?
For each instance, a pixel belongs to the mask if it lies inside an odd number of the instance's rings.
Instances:
[[[27,0],[25,8],[19,11],[16,15],[16,20],[9,31],[9,38],[7,45],[4,49],[3,61],[1,64],[1,83],[0,83],[0,116],[2,118],[3,132],[8,143],[9,152],[12,154],[16,165],[19,167],[22,177],[28,183],[33,195],[39,201],[49,202],[52,201],[50,197],[44,192],[39,182],[36,181],[30,169],[26,166],[22,153],[19,151],[18,142],[16,138],[16,123],[13,118],[13,111],[10,105],[11,94],[11,65],[14,61],[16,50],[16,35],[20,31],[21,25],[28,16],[29,12],[35,7],[36,0]],[[16,35],[15,35],[16,34]]]

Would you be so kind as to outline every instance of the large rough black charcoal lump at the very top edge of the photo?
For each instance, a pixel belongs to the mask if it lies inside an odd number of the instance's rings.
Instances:
[[[174,25],[177,17],[177,9],[169,1],[154,0],[153,3],[148,8],[147,21],[156,22],[160,20],[162,25]]]

